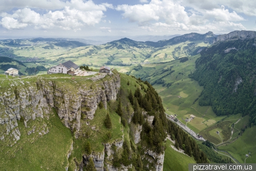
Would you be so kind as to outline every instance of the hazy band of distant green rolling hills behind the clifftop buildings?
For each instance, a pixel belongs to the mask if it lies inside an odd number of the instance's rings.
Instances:
[[[93,67],[110,65],[126,72],[140,63],[161,63],[196,55],[215,37],[212,32],[190,33],[158,42],[123,38],[101,45],[62,38],[7,39],[0,40],[0,55],[26,62],[31,65],[29,67],[39,65],[49,68],[71,60],[78,65]]]

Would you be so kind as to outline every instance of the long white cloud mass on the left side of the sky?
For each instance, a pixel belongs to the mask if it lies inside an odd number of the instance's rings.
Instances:
[[[111,4],[96,5],[93,1],[83,2],[82,0],[71,0],[65,5],[67,6],[62,10],[49,11],[42,15],[30,8],[18,9],[13,14],[3,12],[0,15],[3,17],[1,25],[8,30],[22,29],[31,25],[36,29],[60,28],[77,31],[84,26],[94,26],[99,23],[104,17],[103,11],[113,8]]]

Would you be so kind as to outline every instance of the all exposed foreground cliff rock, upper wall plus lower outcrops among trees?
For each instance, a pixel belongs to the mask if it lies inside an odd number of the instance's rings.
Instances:
[[[34,80],[25,81],[9,81],[8,88],[1,88],[0,91],[0,141],[7,142],[8,146],[12,146],[20,141],[20,136],[27,134],[28,136],[43,136],[49,132],[48,123],[41,123],[38,121],[37,125],[32,125],[31,122],[36,122],[38,117],[49,119],[56,109],[56,113],[63,125],[69,128],[76,138],[82,136],[84,124],[89,125],[92,131],[97,132],[95,125],[91,123],[96,119],[94,113],[98,107],[99,102],[103,103],[104,108],[107,108],[107,102],[117,99],[117,93],[120,87],[120,76],[114,74],[113,77],[104,75],[90,80],[61,80],[38,77]],[[68,84],[69,82],[70,84]],[[22,83],[22,84],[21,84]],[[21,86],[19,86],[21,85]],[[54,109],[52,109],[54,108]],[[145,121],[151,126],[154,116],[147,115],[143,111]],[[83,119],[81,119],[83,117]],[[18,127],[18,120],[23,121],[26,127],[26,132]],[[85,121],[86,120],[86,121]],[[131,121],[131,118],[129,119]],[[121,124],[121,121],[119,120]],[[134,142],[141,145],[141,131],[142,125],[133,125]],[[104,149],[99,152],[92,152],[90,155],[82,153],[81,159],[72,160],[72,164],[65,166],[65,169],[83,170],[84,165],[87,164],[89,158],[92,157],[95,167],[98,171],[109,170],[130,170],[132,164],[124,166],[121,164],[119,168],[115,168],[113,163],[114,154],[120,157],[123,152],[124,130],[121,129],[123,135],[111,142],[104,142]],[[125,138],[124,138],[125,137]],[[32,139],[32,138],[31,138]],[[78,138],[79,139],[79,138]],[[34,140],[34,137],[33,137]],[[17,143],[18,144],[18,143]],[[16,145],[17,145],[16,144]],[[93,145],[93,144],[92,144]],[[75,151],[78,146],[74,145],[73,141],[70,149],[67,152],[67,158],[73,157],[72,151]],[[80,148],[82,148],[80,146]],[[143,145],[142,145],[143,148]],[[163,165],[164,154],[157,154],[144,147],[144,159],[148,162],[154,163],[148,166],[150,170],[161,170]],[[77,158],[76,158],[77,159]],[[70,168],[69,168],[70,167]]]

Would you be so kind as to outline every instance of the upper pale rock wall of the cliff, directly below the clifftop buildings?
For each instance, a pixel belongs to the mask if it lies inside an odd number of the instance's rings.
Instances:
[[[20,136],[17,120],[24,120],[27,126],[30,119],[49,117],[51,107],[56,109],[66,127],[78,133],[81,114],[93,119],[100,101],[106,108],[107,101],[116,100],[120,76],[116,74],[108,79],[88,81],[84,86],[76,86],[74,82],[73,88],[54,79],[39,77],[36,82],[22,82],[22,86],[15,86],[17,82],[11,82],[9,89],[0,91],[0,139],[11,135],[15,142]],[[28,135],[32,132],[33,129]],[[47,133],[47,129],[44,133]]]

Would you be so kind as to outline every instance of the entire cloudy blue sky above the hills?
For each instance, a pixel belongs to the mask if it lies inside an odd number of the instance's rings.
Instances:
[[[255,0],[0,0],[0,37],[256,31]]]

